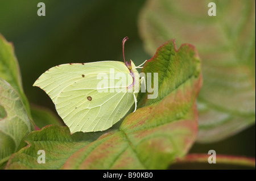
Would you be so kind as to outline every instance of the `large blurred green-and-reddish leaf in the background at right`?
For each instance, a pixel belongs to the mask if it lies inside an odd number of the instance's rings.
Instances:
[[[199,142],[222,140],[255,123],[255,1],[214,1],[216,16],[208,16],[209,2],[151,0],[139,17],[148,53],[171,37],[199,50]]]

